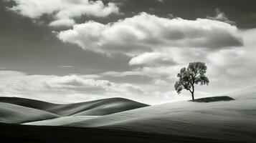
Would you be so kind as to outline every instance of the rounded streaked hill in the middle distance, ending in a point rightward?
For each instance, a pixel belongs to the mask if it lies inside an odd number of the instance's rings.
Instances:
[[[129,99],[110,98],[99,99],[92,102],[62,104],[47,109],[47,111],[60,114],[61,116],[102,116],[147,106],[147,104],[134,102]]]

